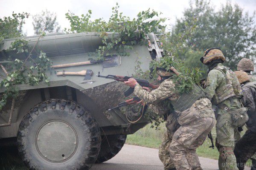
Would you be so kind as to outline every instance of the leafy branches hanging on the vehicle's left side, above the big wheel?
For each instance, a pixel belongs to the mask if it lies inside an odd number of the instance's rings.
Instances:
[[[44,32],[40,34],[30,52],[28,52],[28,41],[24,39],[15,40],[8,49],[8,51],[17,51],[17,54],[25,54],[27,57],[24,61],[16,58],[11,64],[7,65],[11,72],[0,83],[0,88],[5,88],[4,93],[0,96],[0,110],[3,109],[9,98],[17,98],[19,89],[16,85],[37,85],[39,82],[49,82],[46,71],[52,65],[51,60],[42,51],[40,51],[38,57],[32,58],[33,52],[38,53],[35,47],[42,36],[44,36]],[[9,57],[9,59],[11,58]]]

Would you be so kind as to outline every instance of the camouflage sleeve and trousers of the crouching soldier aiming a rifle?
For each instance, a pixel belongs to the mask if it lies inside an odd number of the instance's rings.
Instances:
[[[159,88],[151,92],[145,91],[137,84],[134,88],[134,94],[143,99],[145,103],[153,105],[157,105],[157,103],[165,99],[174,102],[180,97],[171,78],[163,81]],[[175,158],[173,161],[177,170],[201,170],[196,148],[204,142],[216,120],[212,111],[212,104],[207,98],[198,99],[188,111],[193,111],[195,121],[182,125],[175,131],[169,148],[172,156],[170,158]],[[170,138],[169,136],[167,139]],[[163,147],[168,147],[168,142],[170,141],[166,140],[166,144],[163,143]]]

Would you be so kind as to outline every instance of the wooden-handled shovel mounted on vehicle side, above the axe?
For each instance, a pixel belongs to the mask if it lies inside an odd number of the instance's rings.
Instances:
[[[117,55],[113,56],[105,56],[105,60],[103,61],[103,68],[110,68],[110,67],[116,67],[118,66],[118,61],[121,61],[121,58]],[[79,66],[79,65],[90,65],[90,64],[98,64],[101,61],[85,61],[85,62],[73,62],[73,63],[67,63],[67,64],[60,64],[60,65],[52,65],[52,68],[63,68],[63,67],[73,67],[73,66]],[[121,64],[121,62],[120,62]]]

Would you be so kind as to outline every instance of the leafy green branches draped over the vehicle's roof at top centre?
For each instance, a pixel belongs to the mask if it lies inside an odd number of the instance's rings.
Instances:
[[[70,29],[65,28],[66,32],[95,32],[102,38],[102,45],[96,49],[98,59],[104,59],[104,56],[110,55],[112,50],[115,50],[121,56],[129,56],[127,52],[131,49],[131,45],[136,45],[138,39],[145,39],[147,34],[164,29],[160,23],[165,19],[153,20],[153,17],[158,17],[159,14],[154,10],[146,10],[137,14],[137,18],[130,19],[119,12],[118,3],[112,8],[112,14],[108,22],[102,18],[90,20],[92,11],[87,14],[82,14],[81,17],[69,12],[66,18],[70,21]],[[111,35],[108,34],[111,32]]]

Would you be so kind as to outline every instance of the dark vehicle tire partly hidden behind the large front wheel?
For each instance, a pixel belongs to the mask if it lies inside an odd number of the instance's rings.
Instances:
[[[108,161],[116,156],[125,144],[127,135],[116,134],[102,136],[101,149],[96,164]]]

